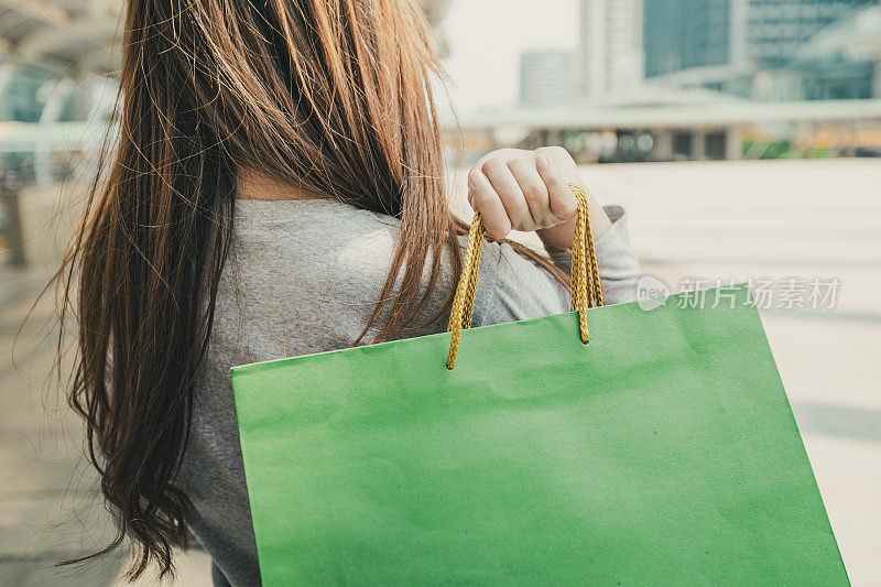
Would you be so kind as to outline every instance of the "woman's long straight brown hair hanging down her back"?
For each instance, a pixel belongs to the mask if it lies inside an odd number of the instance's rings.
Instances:
[[[463,225],[446,199],[442,70],[415,1],[129,0],[122,52],[119,143],[56,280],[62,324],[77,324],[69,402],[118,521],[111,543],[78,561],[128,536],[133,578],[151,563],[171,573],[172,550],[187,545],[194,508],[175,478],[237,169],[400,220],[354,344],[374,322],[374,340],[421,326],[444,248],[460,272]]]

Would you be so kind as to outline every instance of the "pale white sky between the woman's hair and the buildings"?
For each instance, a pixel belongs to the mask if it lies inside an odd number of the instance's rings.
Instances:
[[[576,0],[453,0],[442,29],[459,113],[513,105],[520,91],[522,52],[574,50],[576,4]]]

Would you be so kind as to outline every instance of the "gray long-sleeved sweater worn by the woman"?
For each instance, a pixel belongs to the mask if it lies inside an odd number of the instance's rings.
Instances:
[[[627,219],[617,206],[606,211],[613,224],[597,242],[606,303],[630,302],[641,274]],[[395,219],[335,200],[237,203],[232,249],[178,477],[196,507],[192,532],[214,561],[215,585],[260,584],[230,367],[350,346],[377,304],[396,238]],[[570,259],[568,252],[554,254],[566,269]],[[453,286],[445,259],[425,316],[438,311]],[[474,326],[568,309],[568,294],[546,271],[510,246],[486,243]],[[447,316],[418,335],[443,331],[446,322]]]

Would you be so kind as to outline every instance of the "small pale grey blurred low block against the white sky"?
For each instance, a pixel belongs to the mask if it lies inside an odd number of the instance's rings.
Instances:
[[[530,51],[520,56],[520,104],[565,102],[575,89],[574,55],[568,51]]]

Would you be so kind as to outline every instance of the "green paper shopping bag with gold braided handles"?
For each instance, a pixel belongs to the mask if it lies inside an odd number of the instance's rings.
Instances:
[[[476,219],[453,335],[232,369],[263,585],[848,584],[748,289],[587,309],[581,230],[576,312],[463,331]]]

